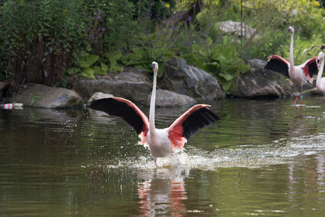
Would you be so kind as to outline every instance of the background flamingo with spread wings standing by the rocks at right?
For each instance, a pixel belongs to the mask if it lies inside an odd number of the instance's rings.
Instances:
[[[300,103],[302,105],[302,85],[306,83],[306,80],[312,83],[312,75],[317,74],[317,57],[312,59],[308,59],[305,63],[301,64],[300,66],[295,66],[293,64],[293,34],[295,30],[292,26],[289,26],[289,32],[291,34],[291,42],[290,42],[290,61],[283,59],[278,55],[272,55],[268,57],[268,63],[264,67],[264,69],[271,69],[272,71],[276,71],[280,74],[288,76],[290,81],[296,86],[300,85],[301,92],[300,92]],[[297,102],[298,95],[297,90],[295,87],[295,102]],[[295,103],[293,103],[295,106]]]

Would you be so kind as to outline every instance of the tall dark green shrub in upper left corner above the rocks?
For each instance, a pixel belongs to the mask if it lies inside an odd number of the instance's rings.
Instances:
[[[7,95],[24,81],[52,86],[61,81],[79,40],[74,1],[6,1],[1,7],[2,66],[11,82]],[[5,63],[4,63],[5,61]]]

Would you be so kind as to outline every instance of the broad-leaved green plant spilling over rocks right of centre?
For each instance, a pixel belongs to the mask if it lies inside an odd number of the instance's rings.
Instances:
[[[228,37],[225,36],[223,45],[212,45],[212,40],[208,38],[207,49],[200,45],[192,45],[192,53],[185,55],[194,66],[209,72],[218,79],[225,93],[231,93],[235,89],[232,78],[240,73],[248,71],[249,66],[238,57],[235,47],[227,45]]]

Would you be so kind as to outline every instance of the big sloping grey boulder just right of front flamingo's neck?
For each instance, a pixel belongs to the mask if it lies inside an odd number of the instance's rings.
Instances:
[[[161,86],[196,100],[225,98],[217,79],[201,69],[189,66],[182,59],[167,62]]]

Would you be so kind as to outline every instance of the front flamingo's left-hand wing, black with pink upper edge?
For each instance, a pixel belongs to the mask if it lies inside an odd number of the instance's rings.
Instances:
[[[133,102],[124,98],[102,98],[90,102],[88,107],[93,110],[106,112],[111,116],[122,117],[126,123],[136,130],[136,133],[141,138],[140,143],[144,144],[147,142],[148,117]]]

